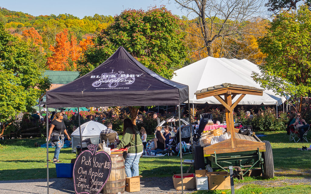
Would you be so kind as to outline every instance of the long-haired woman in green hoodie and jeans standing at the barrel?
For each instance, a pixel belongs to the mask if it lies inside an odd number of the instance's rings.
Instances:
[[[139,175],[138,163],[143,152],[142,138],[137,126],[133,125],[130,119],[124,119],[123,122],[123,137],[117,148],[111,151],[128,148],[128,154],[124,162],[125,173],[127,177],[134,177]]]

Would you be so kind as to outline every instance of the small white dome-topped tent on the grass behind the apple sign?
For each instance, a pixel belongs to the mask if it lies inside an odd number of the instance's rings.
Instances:
[[[107,127],[99,122],[88,121],[84,124],[81,124],[81,136],[82,141],[90,138],[91,143],[97,145],[100,140],[100,132]],[[76,151],[76,146],[80,143],[80,132],[79,128],[77,128],[74,132],[71,133],[71,148],[72,151]]]

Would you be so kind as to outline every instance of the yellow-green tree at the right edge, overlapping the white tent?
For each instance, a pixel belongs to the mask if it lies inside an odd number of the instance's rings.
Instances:
[[[253,78],[263,88],[282,96],[291,96],[296,111],[302,99],[311,92],[311,11],[307,5],[298,10],[282,11],[259,39],[259,47],[267,54],[266,64]],[[289,102],[290,103],[290,102]]]

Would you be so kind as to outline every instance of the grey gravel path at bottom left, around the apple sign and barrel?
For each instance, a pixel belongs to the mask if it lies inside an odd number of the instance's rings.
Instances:
[[[46,179],[0,181],[1,194],[43,194],[47,193]],[[72,178],[50,178],[49,194],[74,194]],[[193,190],[194,191],[194,190]],[[185,191],[184,193],[191,193]],[[128,192],[124,192],[128,193]],[[141,178],[141,191],[135,194],[181,193],[174,189],[172,177]]]

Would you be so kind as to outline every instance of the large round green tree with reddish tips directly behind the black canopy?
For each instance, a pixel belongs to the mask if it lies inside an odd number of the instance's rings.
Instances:
[[[123,46],[137,61],[170,79],[186,57],[180,25],[165,7],[123,11],[107,29],[95,32],[95,45],[86,50],[78,70],[86,74]]]

